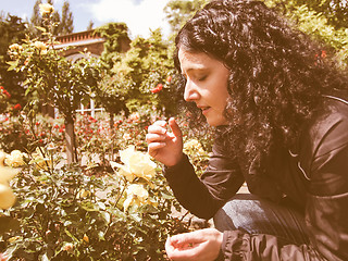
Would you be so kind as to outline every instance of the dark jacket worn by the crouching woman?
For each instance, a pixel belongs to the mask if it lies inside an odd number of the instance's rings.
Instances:
[[[309,245],[286,245],[271,235],[224,232],[225,260],[348,260],[348,104],[327,98],[295,148],[279,148],[260,175],[243,154],[226,157],[216,141],[199,179],[187,157],[164,169],[175,197],[197,216],[210,219],[247,183],[251,194],[302,211]]]

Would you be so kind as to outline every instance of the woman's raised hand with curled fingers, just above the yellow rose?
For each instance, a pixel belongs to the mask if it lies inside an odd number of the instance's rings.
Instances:
[[[148,152],[166,166],[178,163],[183,157],[183,134],[174,117],[169,120],[172,132],[166,130],[166,122],[158,121],[149,126],[146,141]]]

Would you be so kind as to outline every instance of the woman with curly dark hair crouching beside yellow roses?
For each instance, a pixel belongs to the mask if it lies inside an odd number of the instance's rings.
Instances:
[[[169,258],[348,260],[347,77],[259,1],[212,1],[176,49],[190,121],[215,127],[212,157],[198,178],[175,119],[149,127],[148,151],[215,228],[169,238]]]

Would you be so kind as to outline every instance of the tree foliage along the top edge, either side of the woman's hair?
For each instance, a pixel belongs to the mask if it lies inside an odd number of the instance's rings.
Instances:
[[[295,22],[296,26],[327,45],[343,67],[348,66],[348,1],[263,0]],[[164,8],[173,34],[179,30],[206,0],[171,0]],[[328,51],[328,50],[327,50]]]

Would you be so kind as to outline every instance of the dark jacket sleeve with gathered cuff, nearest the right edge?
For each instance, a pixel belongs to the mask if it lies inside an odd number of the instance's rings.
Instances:
[[[310,152],[300,158],[308,179],[310,244],[228,231],[222,246],[225,260],[348,260],[348,119],[334,116],[312,130]]]

